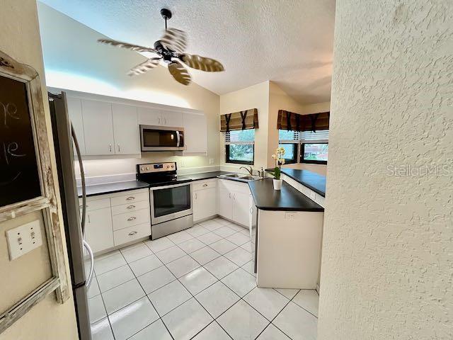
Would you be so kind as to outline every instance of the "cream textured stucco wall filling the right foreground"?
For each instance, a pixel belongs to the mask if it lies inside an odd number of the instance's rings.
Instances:
[[[318,339],[453,339],[453,1],[336,11]]]

